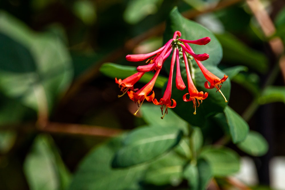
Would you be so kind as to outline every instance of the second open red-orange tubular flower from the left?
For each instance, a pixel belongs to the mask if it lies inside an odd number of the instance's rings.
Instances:
[[[146,99],[148,102],[151,102],[154,99],[154,92],[152,92],[152,94],[149,96],[148,94],[152,91],[159,72],[160,70],[156,70],[152,79],[137,92],[134,92],[134,91],[127,92],[129,98],[133,100],[135,103],[138,103],[139,109],[141,105],[143,104],[144,99]],[[137,115],[137,112],[139,111],[139,109],[134,113],[134,115]]]

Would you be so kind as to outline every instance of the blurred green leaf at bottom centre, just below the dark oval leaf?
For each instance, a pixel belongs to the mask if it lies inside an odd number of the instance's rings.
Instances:
[[[145,173],[144,182],[154,185],[177,186],[182,181],[182,171],[186,160],[174,152],[158,158],[150,164]]]

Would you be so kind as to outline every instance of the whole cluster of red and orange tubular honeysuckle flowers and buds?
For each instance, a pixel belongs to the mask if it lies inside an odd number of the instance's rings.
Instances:
[[[201,72],[203,73],[204,77],[207,79],[205,82],[205,88],[212,89],[216,88],[217,91],[221,93],[221,95],[224,97],[225,102],[227,102],[227,99],[221,92],[221,86],[222,83],[227,79],[228,76],[224,75],[222,79],[208,71],[201,61],[207,60],[209,58],[209,54],[195,54],[193,49],[191,48],[190,44],[198,44],[198,45],[206,45],[210,42],[209,37],[201,38],[198,40],[184,40],[180,39],[181,32],[176,31],[174,32],[173,38],[168,40],[164,46],[159,48],[158,50],[154,52],[150,52],[147,54],[134,54],[134,55],[127,55],[126,59],[131,62],[139,62],[146,60],[146,65],[138,66],[137,67],[137,73],[125,78],[125,79],[117,79],[115,78],[115,82],[119,84],[119,87],[121,88],[121,91],[123,92],[122,95],[118,95],[118,97],[123,96],[124,94],[128,94],[129,98],[133,100],[135,103],[138,104],[138,110],[134,113],[134,115],[137,114],[139,111],[141,105],[143,104],[144,100],[148,102],[153,102],[155,105],[160,105],[161,113],[162,113],[162,119],[167,114],[168,108],[174,108],[176,107],[176,101],[171,98],[171,91],[172,91],[172,79],[173,79],[173,72],[174,72],[174,66],[176,62],[176,88],[179,90],[184,90],[186,88],[186,85],[184,81],[182,80],[181,73],[180,73],[180,59],[183,58],[182,62],[185,63],[186,73],[187,73],[187,84],[188,84],[188,93],[186,93],[183,96],[183,100],[188,102],[193,102],[193,108],[194,108],[194,115],[196,114],[196,107],[199,107],[200,103],[204,99],[208,97],[207,92],[198,91],[195,87],[191,72],[189,69],[189,62],[191,60],[195,60],[198,64]],[[173,50],[171,64],[170,64],[170,73],[168,78],[168,83],[166,86],[166,89],[164,91],[164,95],[160,100],[158,101],[156,98],[154,98],[154,91],[153,87],[155,84],[155,81],[159,75],[160,70],[162,69],[162,66],[164,64],[164,61],[170,56],[171,52]],[[181,55],[181,56],[180,56]],[[144,73],[153,71],[154,76],[152,79],[144,85],[141,89],[134,89],[134,85],[137,81],[141,79],[141,77],[144,75]]]

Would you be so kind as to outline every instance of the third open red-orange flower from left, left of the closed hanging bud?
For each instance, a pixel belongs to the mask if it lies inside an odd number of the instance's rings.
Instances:
[[[167,108],[174,108],[176,106],[176,101],[174,99],[170,99],[171,91],[172,91],[173,70],[174,70],[174,64],[175,64],[175,59],[176,59],[176,49],[177,48],[174,48],[174,52],[173,52],[173,55],[172,55],[168,83],[167,83],[166,89],[164,91],[163,97],[160,98],[159,102],[157,101],[157,99],[153,99],[152,100],[152,102],[155,105],[161,105],[160,109],[161,109],[161,113],[163,115],[161,117],[161,119],[163,119],[165,114],[167,114]],[[173,101],[173,103],[172,103],[171,100]],[[163,113],[164,108],[165,108],[165,111]]]

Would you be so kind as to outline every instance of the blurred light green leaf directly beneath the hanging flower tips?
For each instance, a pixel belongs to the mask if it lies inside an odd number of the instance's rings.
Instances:
[[[140,109],[142,117],[146,123],[155,127],[173,127],[176,129],[183,130],[183,133],[187,135],[188,123],[181,119],[176,113],[174,113],[170,108],[168,109],[168,114],[165,115],[163,119],[160,119],[162,116],[160,107],[152,103],[144,103]]]

